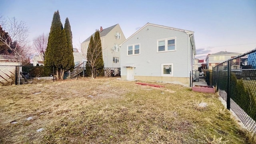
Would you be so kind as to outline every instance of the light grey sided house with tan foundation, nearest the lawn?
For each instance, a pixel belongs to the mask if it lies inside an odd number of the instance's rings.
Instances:
[[[121,78],[191,86],[194,32],[147,23],[120,44]]]

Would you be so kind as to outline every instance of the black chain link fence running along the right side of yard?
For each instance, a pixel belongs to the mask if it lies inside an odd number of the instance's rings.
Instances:
[[[215,66],[213,85],[227,108],[256,133],[256,49]]]

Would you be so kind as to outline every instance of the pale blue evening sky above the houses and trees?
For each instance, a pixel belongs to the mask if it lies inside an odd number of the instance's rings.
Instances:
[[[256,0],[0,0],[0,16],[26,22],[29,40],[49,33],[59,10],[68,17],[73,47],[100,26],[119,24],[126,38],[147,22],[194,31],[196,58],[256,48]]]

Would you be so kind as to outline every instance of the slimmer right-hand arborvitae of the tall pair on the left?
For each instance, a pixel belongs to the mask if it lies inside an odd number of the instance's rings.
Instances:
[[[67,53],[65,54],[68,64],[67,64],[65,70],[72,71],[74,69],[75,64],[74,64],[74,56],[73,56],[72,32],[71,32],[71,26],[70,26],[68,18],[66,18],[66,21],[64,24],[64,30],[66,31],[66,38],[67,38],[67,44],[68,44]]]

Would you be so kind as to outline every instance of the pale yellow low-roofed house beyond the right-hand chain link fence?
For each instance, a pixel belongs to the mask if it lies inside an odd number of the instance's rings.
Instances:
[[[234,58],[241,53],[236,52],[217,52],[215,54],[208,54],[206,56],[206,64],[207,69],[212,70],[214,66],[217,66],[218,64],[230,59]],[[232,64],[231,69],[239,69],[240,68],[240,58],[236,59],[236,62]]]

